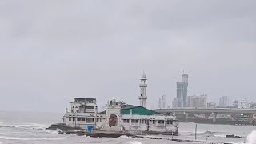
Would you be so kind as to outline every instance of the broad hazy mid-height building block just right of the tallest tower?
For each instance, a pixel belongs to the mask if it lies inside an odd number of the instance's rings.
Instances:
[[[207,95],[201,95],[201,96],[188,96],[186,98],[186,106],[187,107],[201,107],[206,108],[207,107]]]

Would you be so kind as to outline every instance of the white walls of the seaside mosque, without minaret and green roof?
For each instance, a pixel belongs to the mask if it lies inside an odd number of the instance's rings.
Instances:
[[[98,113],[95,102],[94,98],[74,98],[74,102],[70,102],[71,110],[66,109],[64,115],[66,126],[80,127],[85,130],[88,126],[96,126],[100,130],[125,129],[127,131],[178,133],[178,121],[173,116],[147,115],[145,112],[140,112],[140,114],[134,112],[133,114],[132,109],[130,109],[130,114],[121,114],[120,102],[116,102],[115,99],[107,102],[106,113]],[[86,110],[91,109],[91,106],[94,106],[94,111]],[[142,110],[147,109],[143,107]]]

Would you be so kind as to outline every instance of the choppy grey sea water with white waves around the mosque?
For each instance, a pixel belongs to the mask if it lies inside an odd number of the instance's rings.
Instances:
[[[0,144],[182,144],[187,142],[173,142],[162,139],[147,138],[90,138],[73,134],[58,134],[58,130],[46,130],[52,123],[62,122],[62,113],[46,112],[19,112],[0,111]],[[179,123],[178,139],[207,142],[230,142],[256,144],[256,126],[231,126]],[[242,138],[226,138],[227,134],[234,134]],[[155,135],[159,138],[171,138],[171,136]],[[200,143],[200,142],[198,142]]]

